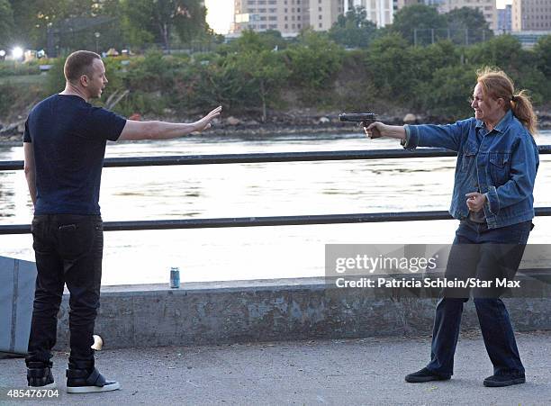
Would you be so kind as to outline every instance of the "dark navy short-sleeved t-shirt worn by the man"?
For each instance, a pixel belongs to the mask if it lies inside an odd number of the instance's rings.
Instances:
[[[122,116],[76,95],[52,95],[25,122],[36,167],[35,214],[100,214],[105,144],[117,140]]]

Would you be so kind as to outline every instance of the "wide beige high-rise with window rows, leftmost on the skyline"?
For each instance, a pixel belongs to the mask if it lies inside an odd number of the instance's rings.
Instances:
[[[327,31],[343,14],[343,0],[234,0],[230,33],[276,30],[294,36],[304,28]]]

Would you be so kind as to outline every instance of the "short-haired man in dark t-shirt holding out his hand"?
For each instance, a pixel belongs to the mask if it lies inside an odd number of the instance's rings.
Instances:
[[[51,349],[67,284],[71,352],[68,392],[119,389],[95,369],[92,335],[99,308],[103,222],[99,190],[107,140],[170,140],[211,126],[221,107],[193,123],[133,122],[88,104],[107,78],[99,55],[79,50],[65,62],[65,90],[37,104],[25,123],[24,169],[34,204],[38,270],[27,364],[30,386],[55,387]]]

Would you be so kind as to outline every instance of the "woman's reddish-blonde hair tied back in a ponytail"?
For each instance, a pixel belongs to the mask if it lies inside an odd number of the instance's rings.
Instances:
[[[483,68],[476,72],[476,82],[483,88],[483,95],[505,101],[505,111],[512,110],[531,134],[537,132],[537,116],[526,90],[515,93],[515,86],[505,72],[495,68]]]

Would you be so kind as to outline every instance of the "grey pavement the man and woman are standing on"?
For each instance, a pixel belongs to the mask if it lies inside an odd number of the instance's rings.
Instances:
[[[97,353],[96,366],[122,389],[65,392],[67,354],[56,352],[59,396],[9,398],[26,389],[22,358],[0,360],[0,404],[367,404],[549,405],[551,331],[518,333],[527,383],[486,388],[492,374],[483,340],[463,334],[456,371],[447,382],[405,383],[429,357],[430,338],[363,338],[231,344],[201,347],[136,347]]]

